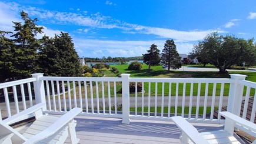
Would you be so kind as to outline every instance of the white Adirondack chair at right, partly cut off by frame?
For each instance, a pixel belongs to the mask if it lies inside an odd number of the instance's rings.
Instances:
[[[172,121],[182,130],[181,143],[240,143],[233,136],[235,123],[251,130],[250,134],[256,136],[256,125],[248,120],[242,119],[230,112],[220,112],[225,117],[224,130],[199,133],[187,120],[181,116],[172,117]],[[254,140],[253,144],[256,143]]]

